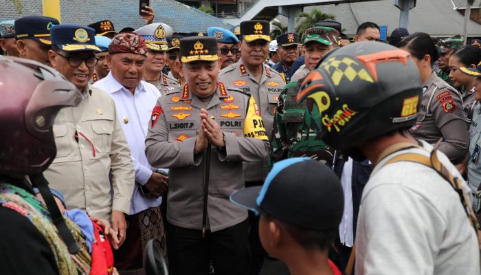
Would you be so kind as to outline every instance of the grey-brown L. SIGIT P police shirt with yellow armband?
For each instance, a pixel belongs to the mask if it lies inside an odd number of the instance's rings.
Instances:
[[[170,168],[167,220],[200,230],[203,215],[203,154],[194,155],[201,109],[219,123],[225,148],[212,146],[208,192],[208,227],[212,232],[247,219],[247,211],[230,202],[244,188],[243,162],[267,157],[269,142],[254,98],[219,83],[207,106],[184,85],[157,100],[146,137],[151,166]],[[254,137],[254,138],[250,138]]]

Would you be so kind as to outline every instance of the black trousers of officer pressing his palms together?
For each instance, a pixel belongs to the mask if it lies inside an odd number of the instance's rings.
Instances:
[[[216,275],[248,275],[251,253],[247,220],[230,228],[206,232],[180,228],[168,223],[170,273],[208,275],[210,261]]]

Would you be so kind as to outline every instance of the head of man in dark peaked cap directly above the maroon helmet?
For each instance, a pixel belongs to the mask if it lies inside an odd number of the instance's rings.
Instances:
[[[48,57],[52,45],[50,29],[58,24],[58,20],[52,17],[29,16],[16,19],[16,47],[20,57],[51,66]]]

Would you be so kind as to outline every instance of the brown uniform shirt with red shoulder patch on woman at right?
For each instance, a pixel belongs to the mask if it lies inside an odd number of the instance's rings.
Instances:
[[[462,159],[469,144],[461,102],[458,91],[433,72],[423,83],[421,110],[416,125],[410,130],[414,137],[430,144],[443,137],[439,149],[451,162]]]

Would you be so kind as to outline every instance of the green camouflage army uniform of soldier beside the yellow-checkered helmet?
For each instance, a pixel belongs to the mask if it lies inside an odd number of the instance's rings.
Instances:
[[[321,117],[313,100],[297,102],[303,79],[284,87],[274,117],[269,166],[290,157],[311,157],[331,166],[334,150],[321,139]]]

